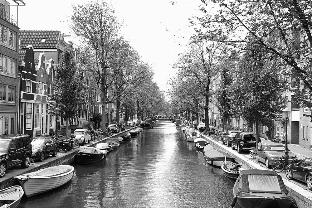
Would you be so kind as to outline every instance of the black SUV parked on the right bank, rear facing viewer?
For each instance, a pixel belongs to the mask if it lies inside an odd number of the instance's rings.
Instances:
[[[252,147],[256,147],[255,132],[238,132],[232,139],[232,149],[237,148],[238,153],[251,150]]]

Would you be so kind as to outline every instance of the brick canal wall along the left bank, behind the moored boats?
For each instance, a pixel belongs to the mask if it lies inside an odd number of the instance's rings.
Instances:
[[[87,143],[83,147],[94,147],[95,144],[97,143],[105,143],[105,140],[107,140],[108,138],[120,137],[121,135],[124,135],[128,131],[131,131],[132,129],[135,128],[138,128],[138,126],[114,134],[111,137],[106,137],[98,141],[92,141],[92,143]],[[0,190],[10,186],[20,185],[19,182],[16,179],[14,179],[15,176],[26,174],[28,172],[34,172],[51,166],[69,165],[73,162],[76,162],[75,155],[77,154],[77,152],[79,152],[79,149],[80,146],[73,148],[69,152],[58,152],[56,157],[46,157],[43,162],[31,163],[31,165],[28,168],[21,168],[20,165],[17,165],[15,167],[8,169],[5,176],[3,178],[0,178]]]

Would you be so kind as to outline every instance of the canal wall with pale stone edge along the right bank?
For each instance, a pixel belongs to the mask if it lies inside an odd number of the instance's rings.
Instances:
[[[201,135],[202,138],[206,139],[210,142],[211,146],[216,150],[220,150],[229,154],[231,157],[234,157],[236,161],[242,165],[244,169],[258,169],[258,170],[267,170],[266,168],[259,165],[255,162],[255,159],[251,159],[246,154],[239,154],[236,150],[232,150],[232,148],[228,148],[226,145],[219,143],[216,140],[212,140],[207,135]],[[312,207],[312,192],[307,188],[303,189],[302,187],[296,185],[290,180],[287,180],[285,177],[285,173],[279,173],[282,176],[284,184],[286,186],[287,191],[290,192],[290,195],[294,201],[295,206],[299,208],[311,208]]]

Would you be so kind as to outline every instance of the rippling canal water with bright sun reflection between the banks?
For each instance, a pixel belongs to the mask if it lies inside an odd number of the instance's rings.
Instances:
[[[75,167],[66,185],[19,208],[230,208],[234,180],[205,162],[174,123],[156,123],[101,161]]]

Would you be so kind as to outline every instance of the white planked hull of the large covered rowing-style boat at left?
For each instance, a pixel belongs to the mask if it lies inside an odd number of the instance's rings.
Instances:
[[[25,195],[27,197],[31,197],[63,186],[71,180],[73,174],[74,167],[69,172],[52,177],[34,176],[29,178],[27,181],[23,181],[22,178],[17,177],[17,181],[21,184]]]

